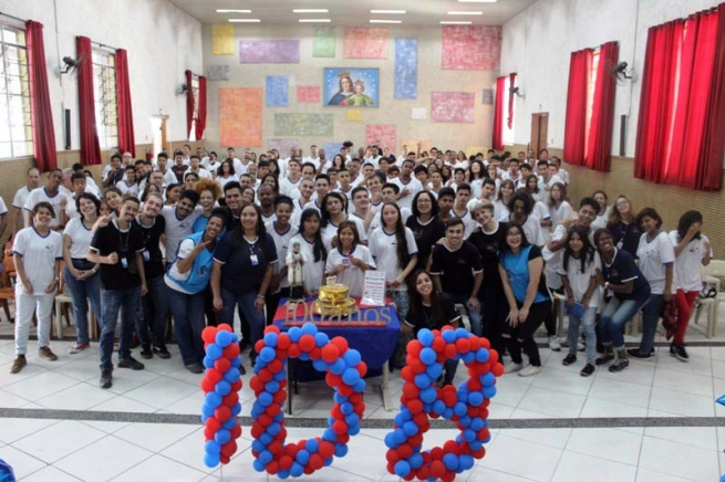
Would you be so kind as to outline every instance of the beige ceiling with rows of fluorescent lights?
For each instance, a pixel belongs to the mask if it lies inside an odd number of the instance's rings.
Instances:
[[[299,24],[299,19],[325,18],[331,24],[367,25],[371,19],[402,20],[405,25],[438,25],[442,20],[500,25],[536,0],[462,3],[457,0],[170,0],[201,23],[226,23],[230,18],[260,19],[261,24]],[[329,13],[292,13],[292,9],[328,9]],[[247,9],[251,13],[217,13],[217,9]],[[372,9],[405,10],[403,15],[370,13]],[[448,15],[452,10],[479,10],[483,15]]]

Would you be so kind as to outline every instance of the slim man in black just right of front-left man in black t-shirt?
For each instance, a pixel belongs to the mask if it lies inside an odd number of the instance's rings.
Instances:
[[[141,298],[144,316],[136,318],[136,334],[141,340],[141,357],[153,358],[154,353],[160,358],[170,358],[166,349],[166,319],[168,317],[168,303],[166,302],[166,284],[164,283],[164,256],[159,241],[166,229],[166,219],[158,216],[164,207],[164,200],[158,193],[146,197],[144,209],[134,219],[134,227],[138,228],[144,239],[144,273],[148,293]],[[154,342],[148,336],[151,328]]]

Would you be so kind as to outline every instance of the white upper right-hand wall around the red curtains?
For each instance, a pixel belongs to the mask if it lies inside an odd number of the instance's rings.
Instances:
[[[563,147],[569,59],[573,51],[619,42],[620,62],[634,80],[617,87],[612,154],[619,154],[620,116],[629,115],[625,156],[634,156],[640,77],[648,29],[717,6],[723,0],[539,0],[504,24],[501,73],[517,72],[526,98],[516,99],[516,143],[528,144],[531,113],[548,112],[549,147]]]

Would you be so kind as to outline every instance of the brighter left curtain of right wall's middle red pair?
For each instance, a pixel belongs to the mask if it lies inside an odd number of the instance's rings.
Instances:
[[[587,88],[591,70],[591,49],[571,52],[567,119],[563,133],[563,160],[574,166],[584,164],[587,140]]]

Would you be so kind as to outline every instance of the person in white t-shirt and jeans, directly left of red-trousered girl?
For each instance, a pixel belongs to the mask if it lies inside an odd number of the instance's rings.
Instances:
[[[640,271],[650,283],[650,301],[642,308],[640,347],[628,349],[626,353],[632,358],[650,359],[662,307],[672,300],[675,252],[667,233],[661,231],[662,218],[657,211],[644,208],[636,214],[635,222],[643,232],[636,255]]]

